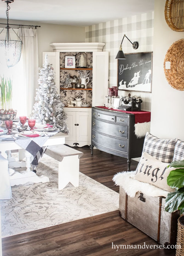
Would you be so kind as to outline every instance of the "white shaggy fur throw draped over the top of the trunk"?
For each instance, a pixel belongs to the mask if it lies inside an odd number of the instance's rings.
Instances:
[[[113,177],[113,181],[117,186],[123,187],[126,194],[130,197],[135,197],[136,192],[142,192],[145,195],[151,197],[167,197],[168,191],[160,189],[148,183],[135,180],[133,177],[135,171],[123,171],[119,172]]]

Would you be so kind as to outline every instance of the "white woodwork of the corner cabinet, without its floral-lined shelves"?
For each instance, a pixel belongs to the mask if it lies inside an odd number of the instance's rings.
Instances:
[[[47,53],[48,58],[50,58],[50,62],[55,63],[55,72],[56,72],[56,85],[58,88],[58,93],[60,91],[60,52],[93,52],[93,98],[92,98],[92,106],[99,106],[105,102],[105,96],[108,93],[108,64],[109,64],[109,53],[102,51],[105,43],[50,43],[50,46],[53,48],[53,53]],[[56,55],[54,55],[54,53]],[[45,56],[45,53],[43,53]],[[55,56],[55,57],[54,57]],[[55,58],[55,60],[54,60]],[[54,66],[53,66],[54,67]],[[73,109],[73,110],[72,110]],[[67,108],[64,110],[69,114],[68,119],[68,127],[71,130],[71,138],[66,139],[66,143],[69,146],[74,146],[73,143],[79,143],[79,147],[90,145],[91,144],[91,120],[89,121],[87,118],[87,123],[83,126],[87,127],[86,141],[84,141],[84,137],[82,136],[81,130],[79,126],[74,127],[76,123],[76,119],[74,119],[74,114],[71,112],[90,112],[91,108]],[[73,117],[71,118],[71,116]],[[85,116],[85,114],[84,114]],[[78,116],[79,118],[79,116]],[[82,117],[80,117],[82,118]],[[71,119],[73,119],[74,123],[71,124]],[[89,123],[88,123],[89,121]],[[90,127],[90,128],[89,128]],[[76,138],[75,131],[76,130]],[[79,139],[79,140],[77,140]]]

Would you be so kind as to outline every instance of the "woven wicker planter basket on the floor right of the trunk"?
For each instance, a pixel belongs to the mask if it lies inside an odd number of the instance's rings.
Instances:
[[[181,246],[181,248],[176,249],[176,256],[183,256],[184,255],[184,225],[183,223],[183,216],[180,216],[178,219],[178,232],[177,232],[177,246]]]

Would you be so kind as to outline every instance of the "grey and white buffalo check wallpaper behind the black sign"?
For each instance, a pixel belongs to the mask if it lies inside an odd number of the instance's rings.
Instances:
[[[115,58],[123,35],[126,34],[131,42],[139,42],[139,48],[134,50],[128,39],[124,38],[122,43],[124,53],[150,52],[153,51],[153,25],[154,12],[149,12],[86,27],[86,42],[105,43],[103,51],[109,51],[109,87],[117,85],[117,59]],[[141,110],[151,110],[151,93],[134,91],[130,93],[142,97]],[[121,97],[126,96],[128,92],[119,91],[118,94]]]

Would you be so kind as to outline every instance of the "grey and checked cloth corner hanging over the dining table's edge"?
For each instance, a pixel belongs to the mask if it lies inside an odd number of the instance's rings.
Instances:
[[[33,160],[31,162],[33,166],[33,170],[36,168],[36,166],[39,163],[39,160],[41,159],[42,155],[44,154],[44,151],[47,147],[43,147],[45,142],[48,140],[47,136],[43,137],[36,137],[36,138],[27,138],[24,140],[18,139],[15,140],[15,143],[21,146],[21,148],[24,148],[26,151],[28,151],[32,156]]]

